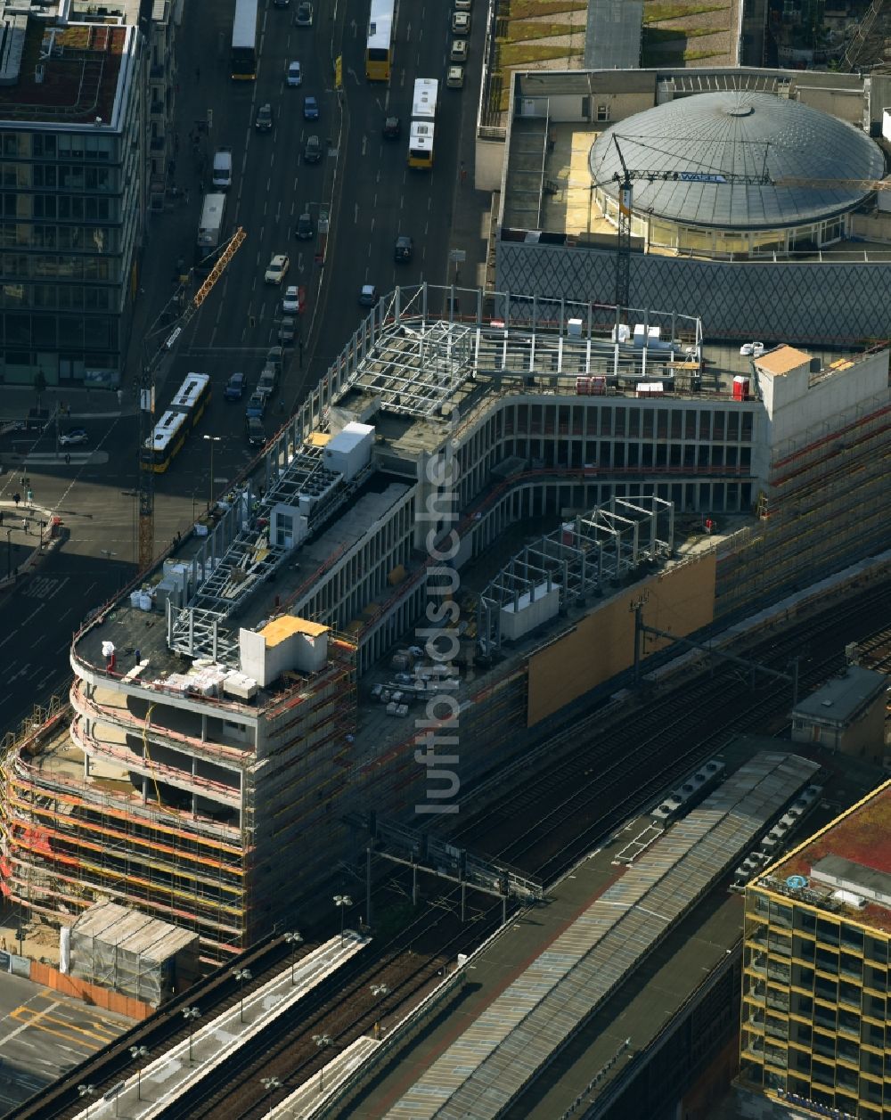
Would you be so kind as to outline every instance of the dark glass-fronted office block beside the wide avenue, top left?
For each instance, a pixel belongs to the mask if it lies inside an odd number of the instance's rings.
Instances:
[[[114,386],[147,209],[138,8],[1,7],[0,383]]]

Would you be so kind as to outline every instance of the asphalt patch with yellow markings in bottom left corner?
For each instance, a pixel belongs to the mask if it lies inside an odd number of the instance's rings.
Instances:
[[[0,974],[0,1116],[131,1026],[122,1016]]]

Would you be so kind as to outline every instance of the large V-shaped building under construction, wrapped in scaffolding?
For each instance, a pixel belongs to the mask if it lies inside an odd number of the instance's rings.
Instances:
[[[84,624],[68,706],[7,737],[24,921],[114,903],[231,959],[362,814],[441,830],[571,734],[669,644],[638,650],[632,600],[704,635],[885,543],[887,348],[749,360],[681,316],[439,297],[372,310],[207,535]]]

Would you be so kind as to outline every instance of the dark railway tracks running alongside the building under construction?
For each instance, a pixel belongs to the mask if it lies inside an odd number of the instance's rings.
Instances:
[[[743,655],[778,671],[799,656],[799,694],[805,694],[842,668],[844,646],[851,641],[859,643],[861,663],[879,669],[891,665],[891,585],[864,589],[818,615],[745,641]],[[602,711],[580,720],[571,753],[471,818],[454,833],[456,839],[553,883],[610,836],[620,821],[653,804],[667,786],[715,754],[733,734],[773,734],[786,724],[788,687],[771,682],[751,692],[741,666],[728,662],[719,663],[711,673],[694,671],[697,675],[687,683],[657,690],[618,720],[604,721]],[[531,819],[535,819],[533,825],[528,824]],[[377,889],[378,907],[379,894],[386,889],[386,885]],[[330,987],[322,986],[301,1001],[294,1015],[285,1018],[283,1030],[263,1040],[262,1049],[244,1049],[229,1066],[204,1079],[163,1114],[190,1120],[263,1116],[330,1058],[312,1042],[313,1034],[328,1035],[335,1046],[346,1046],[373,1030],[382,1017],[404,1014],[405,1007],[435,982],[446,961],[481,941],[500,920],[500,904],[486,899],[477,907],[470,933],[453,912],[456,897],[457,889],[447,889],[435,906],[394,936],[381,939],[379,944],[373,941],[356,958],[351,971],[337,973]],[[256,987],[284,967],[289,955],[281,939],[268,939],[240,958],[238,965],[251,968],[251,987]],[[386,986],[386,996],[373,995],[373,983]],[[186,1037],[182,1006],[198,1006],[206,1021],[237,999],[232,968],[219,970],[150,1024],[140,1025],[102,1056],[83,1063],[55,1093],[41,1093],[32,1110],[26,1104],[13,1116],[47,1120],[73,1117],[81,1110],[78,1082],[90,1081],[104,1091],[135,1072],[131,1045],[146,1045],[157,1056],[159,1048]],[[278,1077],[281,1088],[269,1094],[261,1075]]]

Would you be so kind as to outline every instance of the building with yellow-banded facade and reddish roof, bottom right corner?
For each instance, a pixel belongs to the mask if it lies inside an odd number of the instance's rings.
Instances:
[[[891,1112],[889,812],[884,783],[747,887],[745,1114]]]

